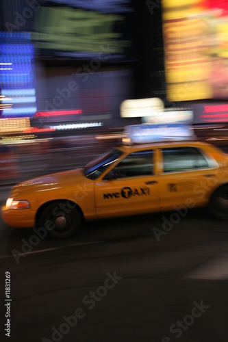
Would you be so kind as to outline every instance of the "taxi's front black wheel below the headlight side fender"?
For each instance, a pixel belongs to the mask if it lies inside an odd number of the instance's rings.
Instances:
[[[67,206],[67,203],[71,205]],[[75,203],[62,200],[45,207],[39,224],[47,228],[47,235],[52,239],[67,239],[77,233],[81,222],[81,213]]]

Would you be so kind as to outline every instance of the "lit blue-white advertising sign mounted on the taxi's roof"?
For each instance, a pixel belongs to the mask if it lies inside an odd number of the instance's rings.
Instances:
[[[123,144],[149,144],[153,142],[193,140],[191,125],[187,123],[171,124],[134,124],[125,127]]]

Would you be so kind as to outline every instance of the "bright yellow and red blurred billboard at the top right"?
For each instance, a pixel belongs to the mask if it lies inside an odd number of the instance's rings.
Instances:
[[[169,101],[227,99],[228,1],[162,2]]]

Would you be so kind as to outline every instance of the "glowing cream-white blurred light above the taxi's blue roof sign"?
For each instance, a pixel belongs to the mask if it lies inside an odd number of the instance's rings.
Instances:
[[[161,111],[164,111],[164,102],[158,97],[125,100],[121,103],[121,118],[143,118]]]

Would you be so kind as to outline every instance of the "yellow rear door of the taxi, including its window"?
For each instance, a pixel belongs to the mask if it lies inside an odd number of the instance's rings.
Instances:
[[[216,185],[216,164],[196,147],[163,148],[160,153],[162,209],[205,205]]]

